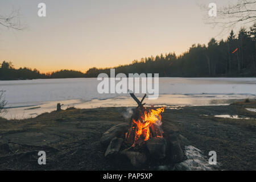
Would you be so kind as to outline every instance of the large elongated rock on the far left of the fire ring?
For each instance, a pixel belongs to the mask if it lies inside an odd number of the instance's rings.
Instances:
[[[114,138],[124,138],[125,133],[128,131],[128,123],[120,123],[119,125],[115,125],[102,134],[101,144],[104,146],[108,146],[109,142]]]

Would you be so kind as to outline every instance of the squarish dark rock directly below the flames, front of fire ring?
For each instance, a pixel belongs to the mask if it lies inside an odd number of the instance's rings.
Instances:
[[[146,146],[150,152],[151,158],[163,159],[166,157],[166,139],[164,138],[150,138],[146,141]]]

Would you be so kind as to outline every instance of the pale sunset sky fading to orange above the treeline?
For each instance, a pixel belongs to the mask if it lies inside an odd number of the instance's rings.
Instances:
[[[38,4],[46,4],[46,17]],[[160,53],[183,53],[220,39],[204,23],[201,0],[0,0],[0,14],[20,10],[22,31],[0,27],[0,61],[40,72],[114,67]],[[226,39],[225,34],[221,35]]]

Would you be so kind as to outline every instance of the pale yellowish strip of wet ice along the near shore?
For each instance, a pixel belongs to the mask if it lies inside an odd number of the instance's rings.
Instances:
[[[233,98],[236,96],[236,98]],[[224,98],[226,97],[226,98]],[[244,101],[246,98],[250,98],[251,101],[255,101],[253,96],[244,95],[232,95],[226,96],[222,94],[218,95],[179,95],[179,94],[162,94],[158,100],[147,100],[147,105],[166,106],[169,108],[184,107],[184,106],[221,106],[229,105],[233,102]],[[171,101],[170,103],[167,101]],[[46,101],[46,102],[30,102],[26,104],[13,104],[5,107],[7,113],[3,115],[6,119],[26,119],[34,118],[42,113],[51,112],[56,110],[57,103],[63,104],[61,108],[67,109],[68,107],[76,107],[77,109],[96,109],[101,107],[134,107],[135,102],[130,97],[117,97],[106,98],[104,101],[99,99],[93,99],[90,101],[82,100],[63,100],[63,101]]]

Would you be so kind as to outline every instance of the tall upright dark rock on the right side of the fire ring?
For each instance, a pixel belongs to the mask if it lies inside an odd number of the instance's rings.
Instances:
[[[180,163],[184,159],[183,144],[179,139],[180,136],[177,133],[169,133],[169,145],[171,152],[171,160],[174,163]],[[183,146],[183,147],[181,147]]]

